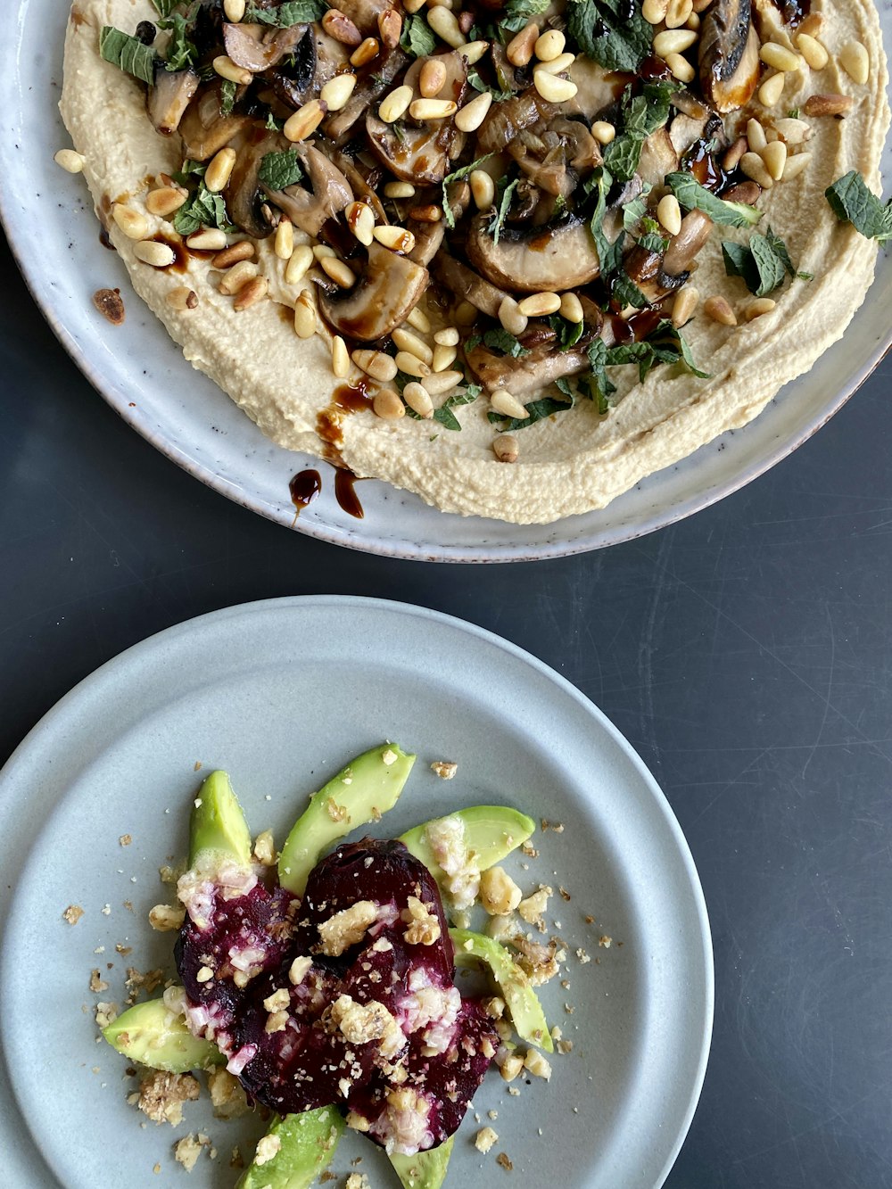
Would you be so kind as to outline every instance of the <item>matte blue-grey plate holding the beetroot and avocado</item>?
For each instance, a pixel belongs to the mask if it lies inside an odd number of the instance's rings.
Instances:
[[[548,918],[571,951],[570,986],[541,993],[573,1051],[554,1058],[551,1084],[520,1082],[516,1097],[488,1076],[475,1108],[484,1121],[498,1112],[498,1147],[480,1157],[466,1120],[447,1185],[491,1184],[503,1175],[498,1151],[527,1185],[548,1182],[558,1153],[565,1189],[662,1184],[699,1094],[712,1015],[705,906],[666,800],[604,716],[540,661],[457,619],[347,598],[249,604],[152,637],[63,698],[0,774],[4,1184],[180,1183],[175,1133],[140,1130],[125,1103],[126,1062],[96,1044],[92,1012],[98,999],[120,1002],[125,967],[170,965],[172,935],[152,933],[145,914],[170,897],[157,868],[183,854],[195,763],[228,769],[255,831],[272,828],[281,842],[322,778],[383,738],[419,761],[378,833],[473,803],[564,825],[536,833],[539,857],[515,856],[513,869],[527,887],[554,887]],[[450,782],[429,769],[441,759],[458,761]],[[70,904],[84,910],[74,926],[62,919]],[[580,963],[577,946],[597,961]],[[94,967],[111,984],[99,996],[88,990]],[[231,1185],[232,1143],[251,1151],[258,1127],[190,1105],[176,1134],[203,1128],[221,1155],[203,1157],[189,1185]],[[357,1156],[375,1185],[395,1183],[356,1134],[334,1170]]]

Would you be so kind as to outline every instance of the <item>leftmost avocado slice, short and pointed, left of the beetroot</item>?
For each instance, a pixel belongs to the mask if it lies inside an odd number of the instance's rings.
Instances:
[[[131,1061],[169,1074],[208,1069],[225,1061],[216,1045],[194,1037],[183,1017],[168,1011],[163,999],[147,999],[128,1007],[102,1028],[102,1036]]]

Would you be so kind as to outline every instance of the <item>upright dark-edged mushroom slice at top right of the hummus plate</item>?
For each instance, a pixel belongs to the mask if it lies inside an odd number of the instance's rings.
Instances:
[[[715,0],[701,23],[704,97],[717,112],[734,112],[752,97],[760,70],[759,34],[750,20],[749,0]]]

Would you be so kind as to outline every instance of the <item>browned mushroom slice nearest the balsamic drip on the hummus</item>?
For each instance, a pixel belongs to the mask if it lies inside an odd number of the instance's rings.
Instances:
[[[427,289],[428,279],[427,269],[372,241],[356,285],[320,289],[319,309],[339,334],[375,342],[402,326]]]

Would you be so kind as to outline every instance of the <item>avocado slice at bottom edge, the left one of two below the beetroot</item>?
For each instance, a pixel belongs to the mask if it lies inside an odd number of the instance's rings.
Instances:
[[[275,1115],[266,1134],[275,1135],[281,1147],[263,1164],[250,1164],[235,1189],[309,1189],[334,1156],[344,1130],[334,1107]]]

